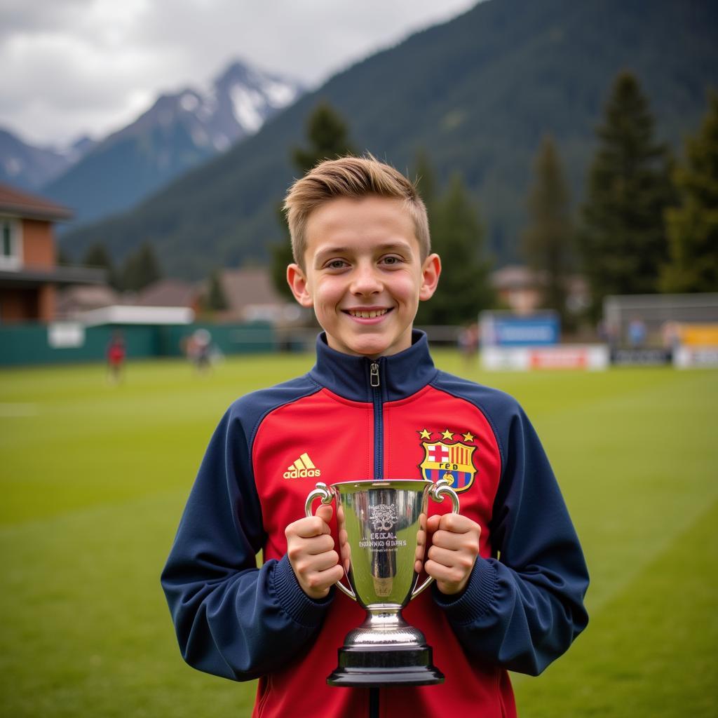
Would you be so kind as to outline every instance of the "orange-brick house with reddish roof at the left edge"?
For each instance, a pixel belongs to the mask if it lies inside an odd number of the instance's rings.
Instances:
[[[44,197],[0,185],[0,323],[51,322],[58,287],[105,281],[101,269],[57,266],[52,225],[70,218]]]

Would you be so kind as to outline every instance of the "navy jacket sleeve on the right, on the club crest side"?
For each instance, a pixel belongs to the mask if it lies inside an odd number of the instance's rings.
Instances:
[[[586,627],[588,571],[541,442],[515,406],[498,427],[503,470],[493,558],[479,558],[458,597],[434,600],[470,655],[536,676]],[[503,428],[503,431],[502,431]]]

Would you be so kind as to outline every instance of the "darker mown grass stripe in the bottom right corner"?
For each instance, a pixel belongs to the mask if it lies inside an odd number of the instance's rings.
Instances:
[[[595,612],[560,663],[518,681],[521,716],[718,715],[717,525],[714,502]]]

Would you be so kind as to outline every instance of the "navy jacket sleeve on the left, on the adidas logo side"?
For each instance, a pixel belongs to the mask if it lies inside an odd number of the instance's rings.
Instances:
[[[265,538],[261,505],[248,432],[233,409],[202,460],[162,587],[185,661],[243,681],[301,651],[319,631],[332,594],[320,601],[307,597],[286,555],[256,567]]]

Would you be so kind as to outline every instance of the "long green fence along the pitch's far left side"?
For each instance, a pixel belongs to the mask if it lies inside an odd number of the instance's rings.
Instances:
[[[102,325],[77,322],[37,322],[0,325],[0,366],[103,361],[116,332],[125,342],[128,358],[180,357],[187,339],[206,329],[213,347],[223,354],[276,350],[274,327],[266,322],[234,325]]]

